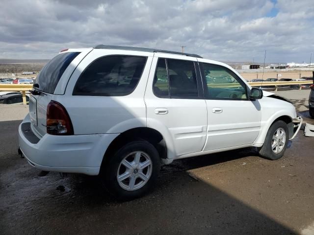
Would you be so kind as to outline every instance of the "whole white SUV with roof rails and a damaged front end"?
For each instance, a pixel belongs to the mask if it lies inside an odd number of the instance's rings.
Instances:
[[[100,174],[120,199],[145,193],[175,159],[249,146],[279,159],[302,123],[288,100],[226,64],[149,48],[61,51],[31,93],[19,126],[29,164]]]

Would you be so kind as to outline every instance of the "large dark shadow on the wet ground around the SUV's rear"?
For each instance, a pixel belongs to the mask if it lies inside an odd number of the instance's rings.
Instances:
[[[294,234],[185,171],[252,156],[254,148],[163,166],[153,192],[121,203],[107,195],[98,177],[39,177],[40,171],[17,155],[19,123],[0,122],[0,148],[6,149],[0,153],[2,234]]]

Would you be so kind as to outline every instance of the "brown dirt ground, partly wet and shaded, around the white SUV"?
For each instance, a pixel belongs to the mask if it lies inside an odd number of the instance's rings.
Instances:
[[[314,124],[309,91],[293,92],[278,93]],[[20,158],[17,128],[26,113],[23,105],[0,106],[0,234],[314,234],[314,138],[302,131],[280,160],[255,148],[177,160],[161,167],[152,192],[118,202],[98,177],[44,175]]]

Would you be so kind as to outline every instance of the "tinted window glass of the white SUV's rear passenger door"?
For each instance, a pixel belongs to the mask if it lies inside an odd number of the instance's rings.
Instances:
[[[198,98],[194,62],[175,59],[159,59],[153,90],[154,94],[160,98]]]

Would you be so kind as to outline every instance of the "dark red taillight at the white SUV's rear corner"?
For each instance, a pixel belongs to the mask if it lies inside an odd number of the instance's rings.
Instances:
[[[56,101],[47,106],[47,133],[51,135],[73,135],[73,126],[66,109]]]

